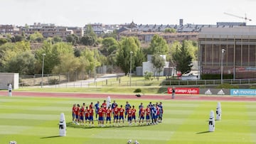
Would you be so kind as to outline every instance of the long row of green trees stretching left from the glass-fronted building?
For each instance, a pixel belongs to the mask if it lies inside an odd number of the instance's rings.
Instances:
[[[30,37],[33,38],[33,35]],[[149,47],[142,48],[138,38],[135,37],[125,37],[119,41],[112,37],[97,40],[95,35],[89,33],[85,37],[93,37],[95,40],[92,43],[95,44],[97,41],[97,45],[100,46],[77,49],[72,41],[68,43],[48,39],[43,40],[41,48],[31,50],[31,43],[27,40],[0,43],[0,72],[39,74],[44,57],[44,72],[48,74],[61,72],[90,74],[94,72],[95,66],[100,65],[117,65],[127,74],[131,65],[131,56],[132,70],[134,70],[135,67],[142,66],[142,62],[146,61],[146,55],[153,55],[152,63],[155,72],[159,74],[164,67],[164,59],[160,55],[166,55],[166,60],[183,74],[190,72],[191,61],[196,60],[197,57],[197,45],[190,40],[184,40],[183,43],[176,41],[168,45],[164,38],[154,35]]]

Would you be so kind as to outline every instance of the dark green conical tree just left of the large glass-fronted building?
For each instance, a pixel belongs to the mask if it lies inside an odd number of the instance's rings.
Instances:
[[[176,64],[176,70],[180,71],[181,74],[191,72],[192,57],[188,52],[188,45],[185,40],[182,42],[181,48],[176,47],[176,52],[173,53],[173,59]]]

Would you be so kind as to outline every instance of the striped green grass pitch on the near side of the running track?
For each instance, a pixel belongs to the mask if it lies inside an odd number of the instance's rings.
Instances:
[[[71,123],[74,103],[89,104],[103,99],[41,98],[0,96],[0,143],[16,140],[18,144],[111,143],[127,140],[150,143],[256,143],[256,103],[221,101],[223,116],[215,121],[215,132],[208,133],[210,110],[217,101],[162,101],[164,122],[154,126],[88,128]],[[113,100],[113,99],[112,99]],[[115,99],[123,104],[126,100]],[[150,100],[130,99],[129,103],[144,106]],[[156,101],[152,101],[156,102]],[[59,137],[60,113],[65,113],[67,136]],[[127,123],[126,123],[127,124]]]

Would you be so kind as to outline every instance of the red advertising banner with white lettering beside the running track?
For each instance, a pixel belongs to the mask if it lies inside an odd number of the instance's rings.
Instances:
[[[168,94],[171,94],[172,93],[172,88],[168,87],[167,91],[168,91]],[[196,87],[191,87],[191,88],[176,87],[175,88],[175,94],[199,94],[199,88],[196,88]]]

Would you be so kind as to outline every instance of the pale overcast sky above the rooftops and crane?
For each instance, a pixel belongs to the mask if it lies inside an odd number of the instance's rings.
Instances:
[[[256,0],[0,0],[0,24],[56,26],[103,24],[213,24],[245,22],[256,26]],[[235,16],[229,16],[231,13]]]

